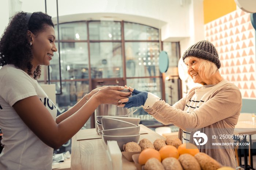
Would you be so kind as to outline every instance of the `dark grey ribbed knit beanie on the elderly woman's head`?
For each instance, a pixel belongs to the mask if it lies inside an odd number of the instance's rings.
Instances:
[[[195,43],[182,56],[183,62],[184,59],[188,56],[198,57],[207,59],[213,62],[218,69],[221,67],[221,62],[219,61],[219,56],[216,48],[209,41],[203,40]]]

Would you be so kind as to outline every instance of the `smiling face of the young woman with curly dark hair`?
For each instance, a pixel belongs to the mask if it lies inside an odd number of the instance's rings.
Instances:
[[[40,32],[35,35],[31,33],[30,38],[32,42],[32,54],[33,54],[33,67],[37,67],[38,65],[46,65],[50,64],[50,60],[53,57],[53,52],[57,51],[55,45],[55,31],[52,26],[46,25],[45,31]]]

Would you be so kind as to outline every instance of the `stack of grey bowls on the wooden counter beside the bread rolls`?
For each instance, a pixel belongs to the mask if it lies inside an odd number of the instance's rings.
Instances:
[[[121,151],[128,142],[138,143],[140,118],[127,116],[97,116],[98,133],[104,142],[116,140]]]

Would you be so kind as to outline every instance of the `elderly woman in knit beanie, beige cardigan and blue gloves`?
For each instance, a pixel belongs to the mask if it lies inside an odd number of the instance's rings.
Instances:
[[[200,152],[205,152],[222,165],[235,168],[236,161],[232,145],[214,149],[213,146],[198,144],[200,140],[196,142],[193,137],[197,131],[204,132],[209,144],[209,141],[214,141],[212,135],[220,136],[219,133],[225,130],[233,135],[242,107],[241,92],[219,73],[221,63],[212,43],[206,40],[195,43],[185,51],[182,59],[187,65],[188,74],[193,82],[202,86],[191,89],[173,106],[152,93],[129,87],[133,92],[132,96],[120,100],[119,102],[123,104],[118,106],[130,108],[142,105],[148,114],[161,123],[172,123],[179,127],[179,138],[182,143],[189,142],[195,145],[197,143]],[[207,130],[212,131],[207,134]],[[223,139],[221,142],[233,143],[233,139]]]

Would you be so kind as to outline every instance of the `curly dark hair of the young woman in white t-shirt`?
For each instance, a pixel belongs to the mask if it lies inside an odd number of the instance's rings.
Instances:
[[[40,78],[41,67],[38,66],[34,73],[31,73],[33,55],[27,31],[38,35],[45,31],[48,25],[54,28],[54,24],[52,17],[43,12],[32,13],[27,24],[26,14],[27,12],[16,13],[5,28],[0,40],[0,66],[13,64],[19,69],[28,70],[27,74],[36,79]]]

